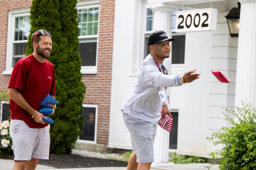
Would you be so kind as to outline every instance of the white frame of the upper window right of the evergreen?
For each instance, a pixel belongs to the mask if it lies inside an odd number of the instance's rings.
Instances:
[[[96,65],[95,66],[81,66],[80,72],[82,74],[97,74],[97,68],[98,68],[98,47],[99,47],[99,30],[100,30],[100,1],[80,1],[77,3],[77,10],[80,9],[87,9],[87,8],[99,8],[99,14],[98,14],[98,32],[97,35],[85,35],[85,36],[78,36],[79,44],[80,42],[97,42],[96,47]]]

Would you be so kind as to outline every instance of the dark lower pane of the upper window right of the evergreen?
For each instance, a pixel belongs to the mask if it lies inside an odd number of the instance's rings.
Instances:
[[[96,65],[97,42],[84,42],[79,45],[79,52],[82,60],[82,66]]]

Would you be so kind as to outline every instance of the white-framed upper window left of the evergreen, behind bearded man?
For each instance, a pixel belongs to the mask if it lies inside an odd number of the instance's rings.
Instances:
[[[3,74],[11,74],[17,61],[22,57],[25,57],[30,27],[29,10],[9,12],[6,70]]]

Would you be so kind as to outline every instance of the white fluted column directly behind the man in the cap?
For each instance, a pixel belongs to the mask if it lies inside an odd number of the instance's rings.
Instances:
[[[173,8],[170,8],[169,4],[152,4],[147,5],[154,12],[153,30],[163,30],[168,35],[168,38],[172,37],[172,12]],[[170,46],[171,42],[170,42]],[[169,62],[169,73],[172,64],[172,48],[170,51]],[[169,94],[169,93],[168,93]],[[170,94],[169,94],[170,96]],[[174,163],[169,162],[169,138],[170,133],[160,126],[157,127],[156,138],[154,141],[154,163],[151,167],[167,167],[174,166]]]

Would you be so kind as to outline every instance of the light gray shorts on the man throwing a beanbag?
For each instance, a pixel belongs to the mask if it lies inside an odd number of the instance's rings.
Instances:
[[[123,110],[122,110],[123,112]],[[133,150],[138,163],[154,162],[154,140],[156,137],[157,124],[133,118],[123,112],[125,126],[131,135]]]

